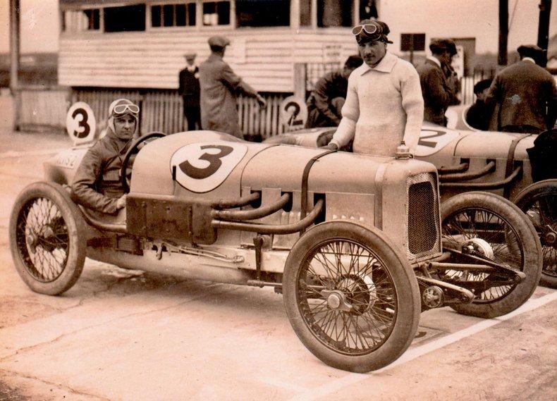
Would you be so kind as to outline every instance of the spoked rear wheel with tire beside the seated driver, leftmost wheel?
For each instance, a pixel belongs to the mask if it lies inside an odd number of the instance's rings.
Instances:
[[[59,295],[78,280],[87,246],[80,211],[54,183],[26,187],[13,205],[10,249],[16,269],[35,292]]]

